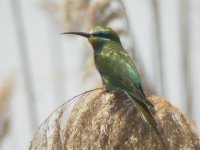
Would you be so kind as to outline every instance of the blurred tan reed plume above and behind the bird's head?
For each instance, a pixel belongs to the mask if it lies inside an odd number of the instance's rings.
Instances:
[[[94,26],[110,26],[116,20],[123,21],[123,27],[116,27],[119,34],[129,30],[121,0],[46,1],[43,8],[64,31],[88,31]]]

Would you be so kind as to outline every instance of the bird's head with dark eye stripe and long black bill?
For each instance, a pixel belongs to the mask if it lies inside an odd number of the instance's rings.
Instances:
[[[104,44],[111,41],[121,43],[116,31],[109,27],[94,27],[90,30],[89,33],[65,32],[63,34],[76,34],[86,37],[94,50],[100,49]]]

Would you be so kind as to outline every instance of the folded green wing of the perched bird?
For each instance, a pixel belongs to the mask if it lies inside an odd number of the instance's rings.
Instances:
[[[144,95],[141,78],[128,55],[119,55],[115,51],[109,51],[109,53],[102,53],[98,57],[99,61],[101,61],[98,70],[100,74],[109,79],[111,84],[121,88],[129,96],[136,98],[142,103],[152,106]]]

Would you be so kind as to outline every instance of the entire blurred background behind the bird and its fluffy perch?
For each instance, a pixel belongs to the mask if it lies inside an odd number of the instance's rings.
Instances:
[[[113,27],[145,90],[200,129],[199,0],[0,0],[0,149],[27,149],[67,99],[101,87],[87,40],[60,35]]]

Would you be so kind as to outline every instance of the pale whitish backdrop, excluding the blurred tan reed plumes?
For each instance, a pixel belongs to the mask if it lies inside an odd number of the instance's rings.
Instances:
[[[160,0],[159,29],[151,0],[124,2],[149,84],[156,94],[192,116],[200,129],[200,1]],[[0,0],[0,83],[10,74],[15,76],[9,99],[10,130],[1,144],[3,150],[27,149],[36,127],[53,110],[94,88],[93,80],[80,78],[84,61],[80,38],[61,36],[41,3]],[[157,58],[159,48],[162,63]]]

